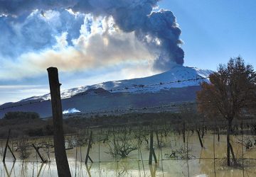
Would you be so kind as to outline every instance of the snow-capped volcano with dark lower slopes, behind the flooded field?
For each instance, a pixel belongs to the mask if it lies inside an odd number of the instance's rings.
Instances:
[[[95,111],[144,108],[183,101],[195,101],[200,83],[212,73],[210,70],[176,66],[168,72],[138,79],[107,81],[92,86],[68,89],[61,93],[63,110],[75,108],[82,113]],[[0,108],[0,118],[9,111],[34,111],[41,117],[51,115],[50,94],[33,96],[16,103],[6,103]],[[40,102],[43,101],[43,102]],[[36,102],[36,103],[31,103]],[[15,107],[16,105],[26,104]],[[159,110],[152,110],[159,111]]]

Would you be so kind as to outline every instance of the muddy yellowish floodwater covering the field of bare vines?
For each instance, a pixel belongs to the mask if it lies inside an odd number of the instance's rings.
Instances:
[[[90,157],[93,161],[85,164],[87,144],[82,144],[81,139],[75,135],[66,137],[66,148],[70,171],[72,176],[256,176],[256,147],[253,144],[255,137],[249,135],[232,136],[231,142],[238,161],[237,167],[226,166],[225,135],[213,135],[210,132],[203,137],[203,148],[196,132],[186,132],[186,142],[178,133],[169,132],[168,135],[159,134],[159,144],[154,134],[154,150],[157,163],[149,165],[149,146],[146,142],[149,135],[144,135],[140,141],[137,133],[127,135],[127,143],[136,147],[127,157],[113,156],[112,139],[120,141],[117,135],[93,136]],[[78,141],[79,140],[79,141]],[[54,149],[46,146],[39,149],[48,163],[41,163],[36,150],[29,146],[26,149],[27,159],[21,158],[20,150],[16,151],[17,142],[21,139],[11,139],[9,145],[14,150],[16,162],[7,150],[6,162],[0,164],[0,176],[58,176],[55,165]],[[249,149],[247,142],[253,142]],[[47,143],[46,143],[47,142]],[[117,143],[115,142],[115,143]],[[50,137],[29,139],[27,144],[51,144]],[[21,142],[19,142],[21,144]],[[242,145],[243,144],[243,145]],[[158,147],[158,145],[160,145]],[[1,142],[1,158],[4,153],[5,140]],[[39,146],[39,145],[38,145]],[[188,157],[188,158],[187,158]],[[242,168],[244,166],[244,169]]]

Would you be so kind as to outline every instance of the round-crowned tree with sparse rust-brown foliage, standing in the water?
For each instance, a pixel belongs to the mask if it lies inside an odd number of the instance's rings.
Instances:
[[[230,166],[232,121],[238,115],[256,108],[256,73],[252,65],[241,57],[231,58],[227,65],[220,64],[218,72],[210,74],[210,84],[203,82],[197,93],[198,111],[208,117],[220,116],[228,121],[227,159]]]

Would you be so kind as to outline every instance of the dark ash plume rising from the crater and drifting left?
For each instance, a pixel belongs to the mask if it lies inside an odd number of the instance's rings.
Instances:
[[[119,29],[134,32],[151,52],[156,54],[154,69],[170,69],[183,64],[184,52],[179,47],[181,30],[171,11],[153,12],[159,0],[6,0],[0,1],[0,15],[22,16],[60,8],[72,9],[93,16],[112,16]]]

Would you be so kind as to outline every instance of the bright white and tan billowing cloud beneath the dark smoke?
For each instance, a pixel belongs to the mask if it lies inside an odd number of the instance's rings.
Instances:
[[[26,52],[13,62],[4,61],[0,79],[39,76],[48,67],[61,72],[78,72],[130,63],[152,64],[154,55],[147,50],[134,33],[123,33],[113,26],[111,18],[97,18],[90,26],[91,33],[73,40],[68,45],[68,32],[55,36],[53,48],[40,52]],[[139,67],[139,66],[138,66]],[[150,69],[148,67],[147,69]]]

